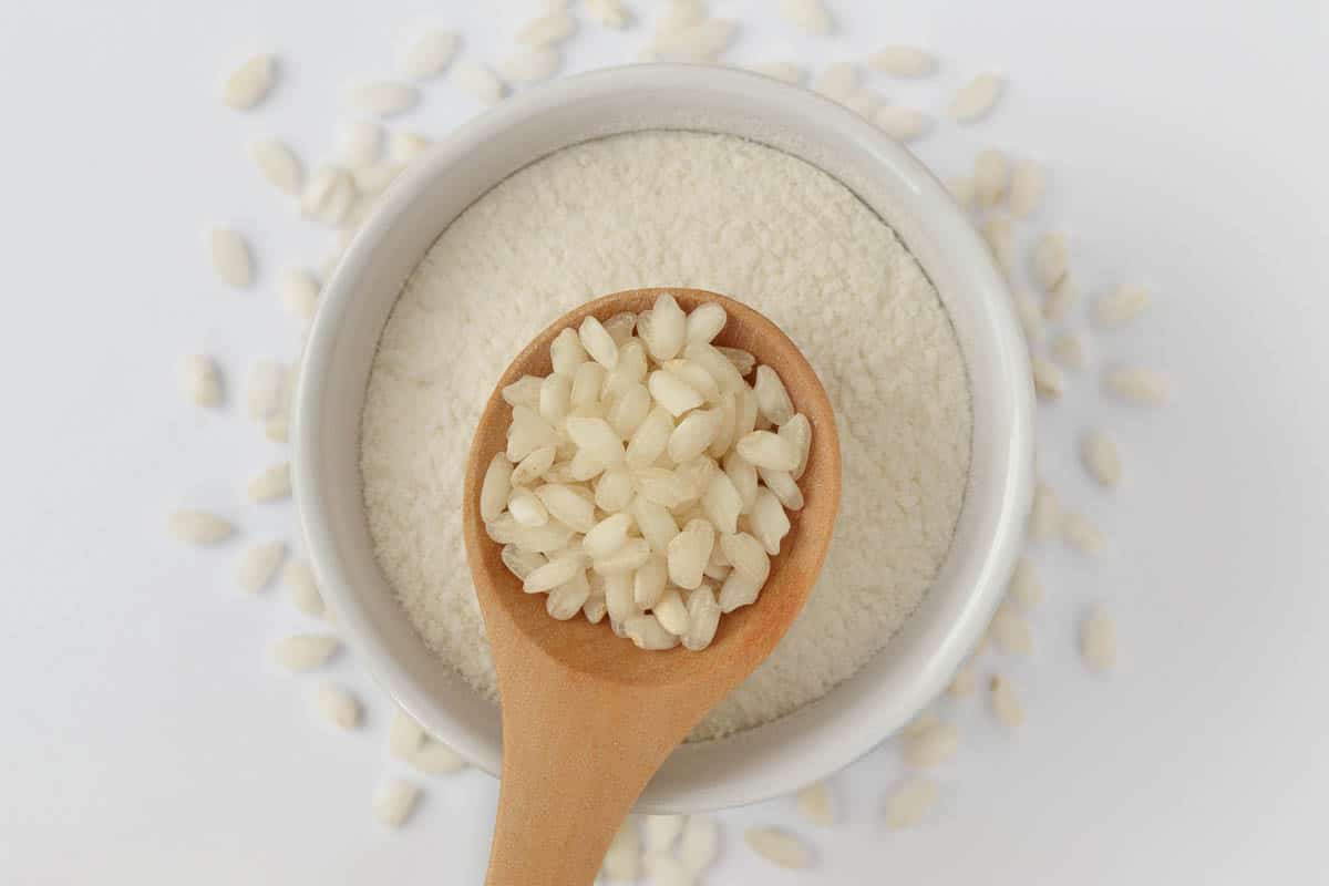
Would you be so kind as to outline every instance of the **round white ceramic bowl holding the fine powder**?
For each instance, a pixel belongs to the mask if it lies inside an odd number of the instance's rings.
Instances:
[[[369,364],[407,276],[466,206],[552,151],[641,129],[742,135],[844,182],[896,230],[941,294],[974,412],[960,525],[920,608],[817,703],[674,752],[639,808],[688,812],[773,797],[832,773],[946,685],[986,628],[1018,553],[1033,489],[1034,406],[1010,295],[973,226],[917,159],[831,101],[726,68],[637,65],[532,89],[461,126],[393,183],[328,282],[296,392],[294,452],[310,557],[339,623],[393,697],[474,765],[498,770],[498,711],[429,652],[373,559],[358,469]]]

